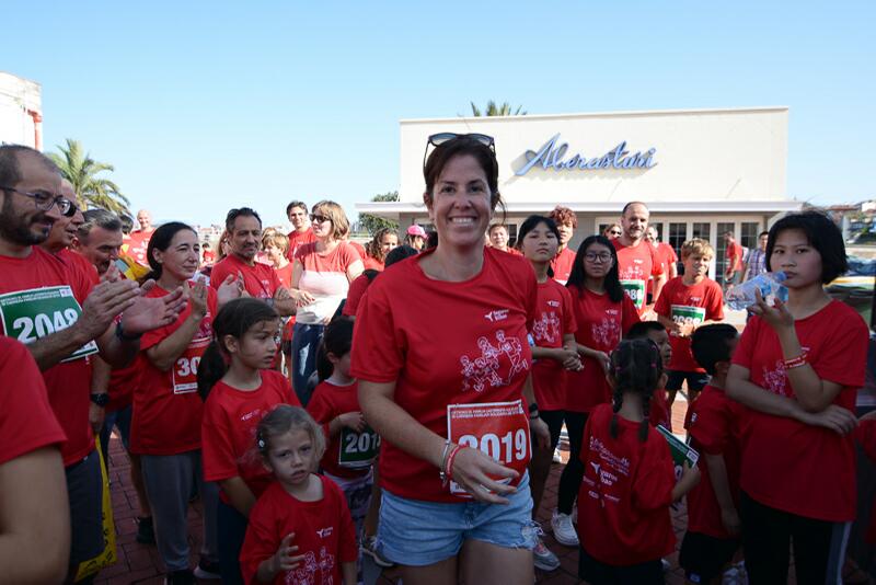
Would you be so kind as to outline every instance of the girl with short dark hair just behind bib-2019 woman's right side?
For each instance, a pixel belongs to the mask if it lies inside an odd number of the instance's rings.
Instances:
[[[575,312],[568,289],[549,276],[551,260],[560,245],[560,230],[553,219],[529,216],[520,226],[518,246],[535,271],[538,287],[537,320],[530,335],[532,346],[532,386],[542,420],[551,431],[549,449],[534,449],[529,466],[532,489],[532,518],[538,515],[544,483],[551,472],[554,449],[560,443],[563,412],[566,408],[566,371],[581,369],[575,342]],[[539,538],[533,549],[535,566],[553,571],[560,559]]]

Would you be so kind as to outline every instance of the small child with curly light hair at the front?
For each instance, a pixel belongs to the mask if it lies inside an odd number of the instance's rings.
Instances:
[[[344,494],[314,472],[322,429],[298,406],[262,418],[256,446],[277,481],[250,513],[240,554],[246,583],[356,584],[356,535]],[[343,575],[343,582],[342,582]]]

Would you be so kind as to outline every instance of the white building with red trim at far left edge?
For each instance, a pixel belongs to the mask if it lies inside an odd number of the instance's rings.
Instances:
[[[0,144],[43,150],[39,83],[0,71]]]

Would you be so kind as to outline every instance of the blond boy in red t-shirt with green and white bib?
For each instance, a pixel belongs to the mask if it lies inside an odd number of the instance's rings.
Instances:
[[[693,239],[684,242],[681,245],[684,275],[669,280],[654,306],[657,320],[669,331],[669,343],[672,345],[666,382],[669,408],[683,381],[688,382],[688,402],[696,400],[708,381],[705,370],[691,354],[691,335],[706,322],[724,319],[721,285],[706,276],[713,257],[715,251],[707,241]]]

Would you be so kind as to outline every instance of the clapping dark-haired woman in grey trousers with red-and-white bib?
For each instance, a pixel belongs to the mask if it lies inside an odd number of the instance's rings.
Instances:
[[[205,483],[200,471],[200,416],[197,367],[212,337],[210,323],[218,298],[239,290],[223,285],[218,291],[204,283],[189,283],[198,269],[200,245],[197,233],[185,223],[172,221],[158,228],[149,241],[147,256],[155,280],[149,297],[162,297],[182,287],[188,302],[175,322],[150,331],[140,341],[140,385],[134,392],[130,451],[140,456],[143,483],[155,526],[159,554],[169,578],[186,578],[188,539],[186,508],[197,483],[204,504],[205,547],[199,569],[212,573],[216,485]]]

